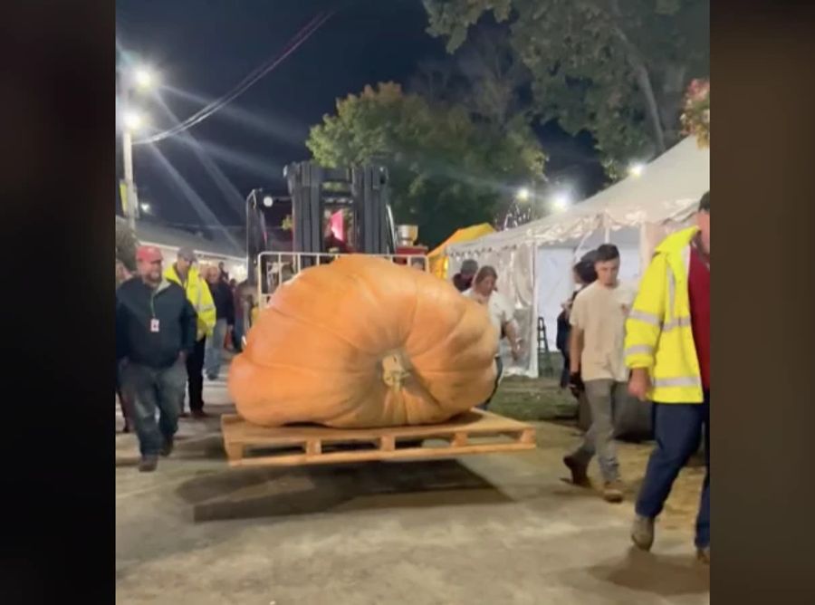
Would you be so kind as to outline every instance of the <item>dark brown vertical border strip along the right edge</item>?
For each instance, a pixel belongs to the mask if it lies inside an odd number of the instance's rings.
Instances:
[[[813,603],[815,11],[711,5],[711,600]]]

